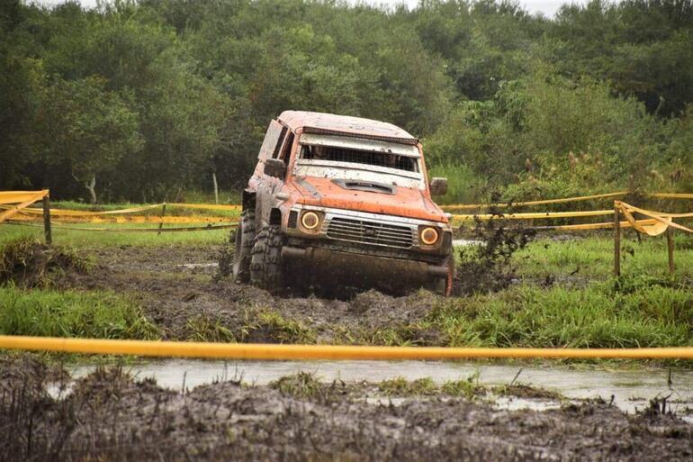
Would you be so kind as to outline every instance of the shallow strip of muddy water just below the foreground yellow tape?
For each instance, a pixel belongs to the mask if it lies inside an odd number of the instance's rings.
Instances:
[[[138,378],[154,377],[161,386],[180,390],[214,381],[242,379],[247,384],[266,385],[282,376],[299,371],[315,373],[320,380],[332,382],[380,382],[403,376],[408,380],[430,377],[438,384],[479,374],[482,385],[506,385],[518,374],[517,365],[479,364],[445,361],[202,361],[167,359],[126,367]],[[93,366],[70,369],[73,377],[85,376]],[[671,373],[662,368],[584,370],[568,367],[522,367],[516,383],[542,387],[563,394],[569,399],[589,399],[598,396],[614,403],[626,412],[643,409],[650,399],[670,396],[672,410],[680,414],[693,406],[693,371]],[[498,405],[509,409],[531,408],[544,410],[559,403],[518,398],[500,398]]]

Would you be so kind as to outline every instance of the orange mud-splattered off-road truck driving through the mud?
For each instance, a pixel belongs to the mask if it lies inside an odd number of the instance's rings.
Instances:
[[[421,286],[450,294],[452,229],[431,195],[421,143],[391,123],[285,111],[243,192],[233,276],[273,294],[293,286]]]

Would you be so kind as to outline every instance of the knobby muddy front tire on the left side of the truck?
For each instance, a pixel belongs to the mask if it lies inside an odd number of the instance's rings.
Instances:
[[[250,282],[273,295],[282,294],[286,289],[282,267],[282,244],[281,226],[263,226],[255,238],[250,262]]]

